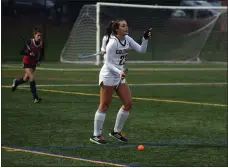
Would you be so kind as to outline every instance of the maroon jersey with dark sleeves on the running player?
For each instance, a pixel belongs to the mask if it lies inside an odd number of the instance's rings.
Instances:
[[[43,56],[43,42],[36,42],[34,39],[30,39],[28,40],[27,44],[31,51],[28,50],[26,45],[24,46],[23,50],[21,51],[21,54],[24,55],[23,63],[36,66],[36,63],[40,61],[41,57]],[[35,56],[29,55],[30,52],[33,52]]]

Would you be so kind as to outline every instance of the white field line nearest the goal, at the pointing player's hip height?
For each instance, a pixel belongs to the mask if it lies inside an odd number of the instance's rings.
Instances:
[[[22,66],[2,65],[2,68],[22,68]],[[4,69],[10,70],[10,69]],[[100,71],[100,68],[43,68],[44,71]],[[227,68],[130,68],[130,71],[227,71]]]

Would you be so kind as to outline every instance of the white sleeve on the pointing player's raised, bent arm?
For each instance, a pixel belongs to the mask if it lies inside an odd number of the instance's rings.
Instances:
[[[148,45],[148,40],[146,40],[144,37],[142,39],[142,44],[139,45],[135,40],[133,40],[130,36],[126,36],[126,39],[129,41],[130,48],[140,52],[145,53]]]

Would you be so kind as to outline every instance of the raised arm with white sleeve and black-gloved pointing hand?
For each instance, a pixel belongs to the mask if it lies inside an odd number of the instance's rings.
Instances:
[[[144,32],[144,36],[143,36],[141,45],[139,45],[130,36],[126,36],[126,39],[129,41],[130,48],[137,52],[145,53],[146,49],[147,49],[147,45],[148,45],[148,39],[151,37],[151,30],[152,29],[148,29],[146,32]]]

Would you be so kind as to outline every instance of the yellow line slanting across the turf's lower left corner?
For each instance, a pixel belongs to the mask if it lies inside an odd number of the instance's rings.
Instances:
[[[63,158],[63,159],[71,159],[71,160],[90,162],[90,163],[95,163],[95,164],[103,164],[103,165],[117,166],[117,167],[126,167],[126,165],[121,165],[121,164],[116,164],[116,163],[89,160],[89,159],[82,159],[82,158],[76,158],[76,157],[71,157],[71,156],[62,156],[62,155],[56,155],[56,154],[44,153],[44,152],[37,152],[37,151],[32,151],[32,150],[27,150],[27,149],[18,149],[18,148],[6,147],[6,146],[2,146],[2,148],[5,149],[5,150],[11,150],[11,151],[14,150],[14,151],[18,151],[18,152],[27,152],[27,153],[38,154],[38,155],[43,155],[43,156],[51,156],[51,157],[57,157],[57,158]]]

